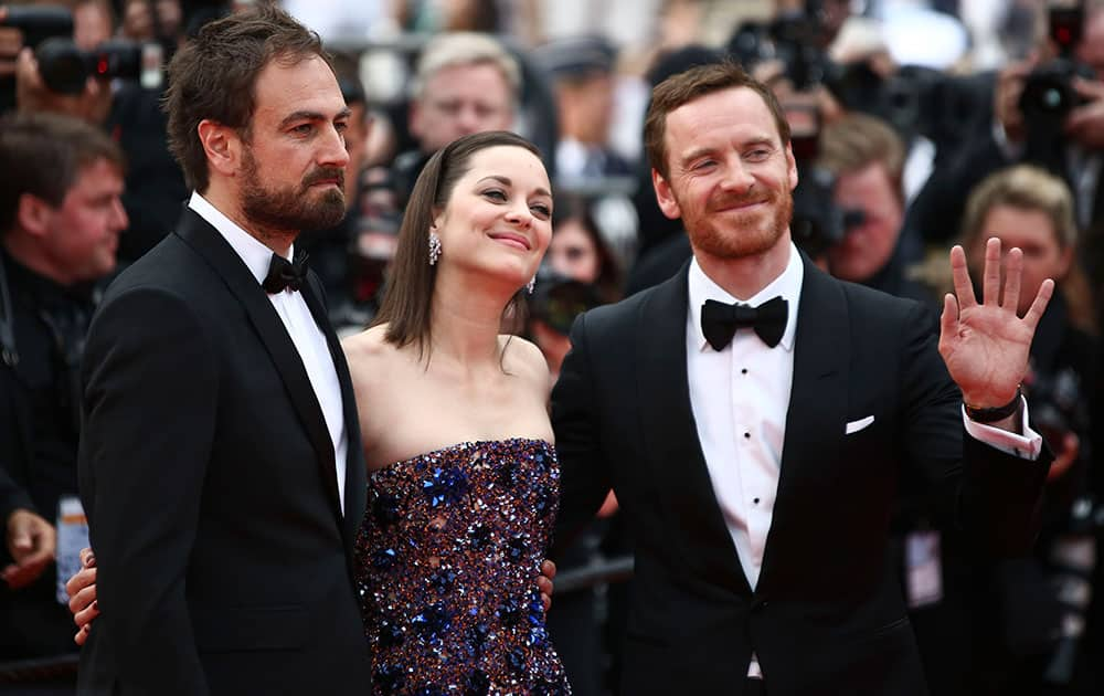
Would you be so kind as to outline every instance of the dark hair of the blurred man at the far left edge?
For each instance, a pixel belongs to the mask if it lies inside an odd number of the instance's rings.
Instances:
[[[15,225],[21,196],[57,208],[81,171],[102,159],[123,175],[123,150],[83,120],[44,113],[0,118],[0,231]]]

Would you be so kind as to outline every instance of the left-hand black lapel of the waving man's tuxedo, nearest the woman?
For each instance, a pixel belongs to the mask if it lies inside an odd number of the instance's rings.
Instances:
[[[751,586],[716,503],[698,439],[687,377],[687,271],[658,286],[643,303],[635,344],[644,450],[658,487],[682,527],[702,573],[744,595]],[[725,549],[718,552],[718,549]]]

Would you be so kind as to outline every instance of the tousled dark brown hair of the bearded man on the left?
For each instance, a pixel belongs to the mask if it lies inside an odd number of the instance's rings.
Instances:
[[[163,108],[169,149],[189,187],[203,193],[210,182],[200,123],[236,128],[248,139],[261,72],[273,61],[296,65],[312,56],[332,68],[318,34],[270,2],[205,24],[177,52]]]

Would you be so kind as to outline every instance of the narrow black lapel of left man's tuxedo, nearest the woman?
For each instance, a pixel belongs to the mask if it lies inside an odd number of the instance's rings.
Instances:
[[[326,344],[330,349],[330,357],[333,359],[333,368],[338,373],[338,382],[341,384],[341,412],[344,415],[346,424],[346,484],[344,484],[344,535],[346,548],[349,558],[352,558],[352,547],[357,539],[357,531],[360,528],[361,518],[364,516],[364,500],[367,496],[367,465],[364,464],[364,449],[360,440],[360,416],[357,413],[357,398],[352,389],[352,379],[349,376],[349,365],[346,362],[344,352],[341,350],[341,342],[337,334],[330,326],[329,316],[319,299],[318,277],[310,273],[308,282],[300,289],[307,306],[310,308],[315,323],[322,329],[326,336]]]

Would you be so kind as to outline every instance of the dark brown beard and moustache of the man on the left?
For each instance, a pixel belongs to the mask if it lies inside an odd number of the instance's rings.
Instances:
[[[248,148],[242,166],[242,212],[250,221],[268,230],[304,232],[327,230],[344,218],[344,169],[319,167],[296,189],[273,190],[261,183],[257,162]],[[336,180],[337,186],[320,192],[311,190],[311,184],[325,180]]]

